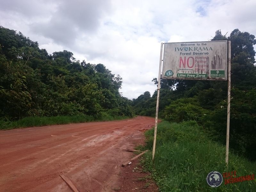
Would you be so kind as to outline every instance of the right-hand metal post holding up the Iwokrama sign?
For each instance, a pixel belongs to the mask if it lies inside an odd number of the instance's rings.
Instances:
[[[229,119],[230,119],[230,80],[231,80],[231,42],[228,41],[228,111],[227,111],[227,138],[226,138],[226,164],[228,166],[229,147]]]

